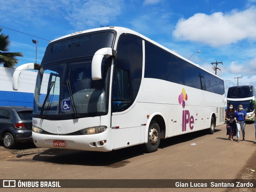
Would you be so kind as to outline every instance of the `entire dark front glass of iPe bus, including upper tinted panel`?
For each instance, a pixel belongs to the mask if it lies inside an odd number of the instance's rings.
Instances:
[[[114,32],[99,31],[57,40],[48,45],[36,80],[34,116],[66,119],[97,116],[108,110],[111,59],[102,60],[102,79],[92,80],[92,56],[112,48]]]

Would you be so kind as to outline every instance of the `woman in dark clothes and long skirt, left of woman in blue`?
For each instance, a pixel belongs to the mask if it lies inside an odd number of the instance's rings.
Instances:
[[[226,120],[227,120],[227,135],[228,140],[233,140],[233,137],[236,136],[236,122],[234,121],[236,110],[232,104],[229,105],[226,111]]]

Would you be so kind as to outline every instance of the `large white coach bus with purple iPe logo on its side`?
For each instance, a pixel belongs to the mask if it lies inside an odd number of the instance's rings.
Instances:
[[[121,27],[80,31],[49,43],[37,69],[34,144],[112,151],[224,123],[224,83],[198,64]]]

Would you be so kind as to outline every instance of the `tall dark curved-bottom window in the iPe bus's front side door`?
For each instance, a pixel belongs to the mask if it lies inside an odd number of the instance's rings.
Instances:
[[[112,110],[128,109],[135,101],[142,80],[142,39],[132,34],[122,34],[114,60]]]

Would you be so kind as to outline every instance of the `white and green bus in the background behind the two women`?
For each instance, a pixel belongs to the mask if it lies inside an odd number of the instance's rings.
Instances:
[[[251,85],[245,86],[234,86],[228,88],[227,95],[227,107],[232,104],[237,110],[241,104],[246,111],[248,118],[251,117],[255,112],[255,87]],[[255,122],[255,117],[246,120],[248,122]]]

